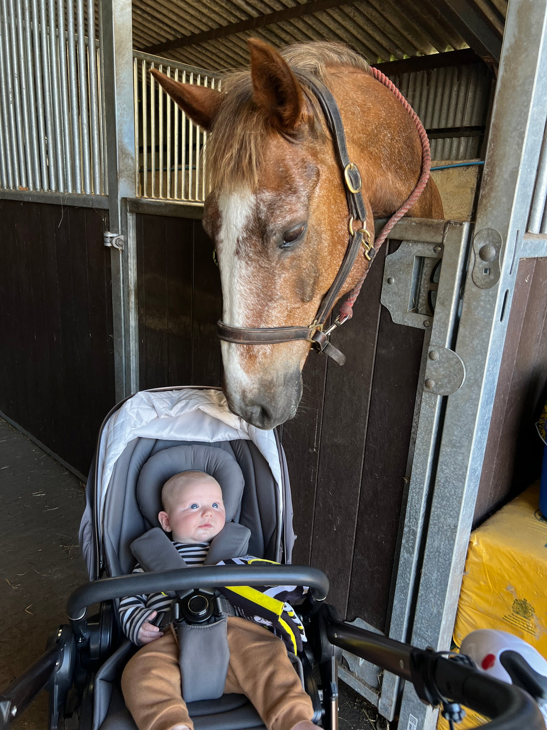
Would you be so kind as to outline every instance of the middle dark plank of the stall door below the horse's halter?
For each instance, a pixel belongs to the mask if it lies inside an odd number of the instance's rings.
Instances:
[[[330,600],[343,615],[349,601],[361,496],[384,255],[382,249],[354,306],[352,321],[335,339],[346,364],[327,365],[311,562],[328,575]]]

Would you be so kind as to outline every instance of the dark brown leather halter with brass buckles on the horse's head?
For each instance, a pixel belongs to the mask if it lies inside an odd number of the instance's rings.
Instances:
[[[375,251],[371,245],[371,234],[366,229],[366,209],[361,194],[361,174],[356,164],[349,160],[346,147],[346,135],[344,124],[334,96],[327,89],[324,83],[316,77],[302,71],[293,72],[296,77],[306,82],[314,92],[325,115],[325,120],[333,137],[335,153],[338,158],[338,166],[344,176],[346,199],[349,210],[349,241],[346,253],[334,277],[330,289],[327,291],[319,305],[314,321],[307,327],[234,327],[222,320],[217,322],[217,334],[225,342],[233,342],[238,345],[275,345],[280,342],[293,342],[303,339],[311,342],[311,347],[321,353],[330,356],[339,365],[344,365],[346,357],[328,339],[328,335],[338,326],[344,324],[347,318],[337,318],[327,331],[323,331],[325,320],[335,301],[338,299],[341,288],[351,272],[357,254],[361,246],[365,250],[365,257],[368,261]],[[360,223],[354,228],[354,223]],[[365,239],[363,239],[365,237]]]

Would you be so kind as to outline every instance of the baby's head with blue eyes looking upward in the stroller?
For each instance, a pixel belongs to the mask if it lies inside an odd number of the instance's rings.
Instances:
[[[222,491],[212,478],[176,489],[164,506],[158,520],[174,542],[210,542],[224,527]]]

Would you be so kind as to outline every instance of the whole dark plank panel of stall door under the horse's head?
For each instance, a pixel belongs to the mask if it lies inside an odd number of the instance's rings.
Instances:
[[[391,242],[390,253],[397,242]],[[380,305],[380,250],[335,334],[339,367],[311,353],[296,417],[283,426],[298,539],[293,561],[321,567],[338,610],[381,631],[389,614],[400,506],[424,334]]]

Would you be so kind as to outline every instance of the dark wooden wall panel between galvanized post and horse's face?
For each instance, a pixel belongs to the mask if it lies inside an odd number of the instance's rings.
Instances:
[[[140,384],[220,385],[220,275],[201,220],[136,215]]]

